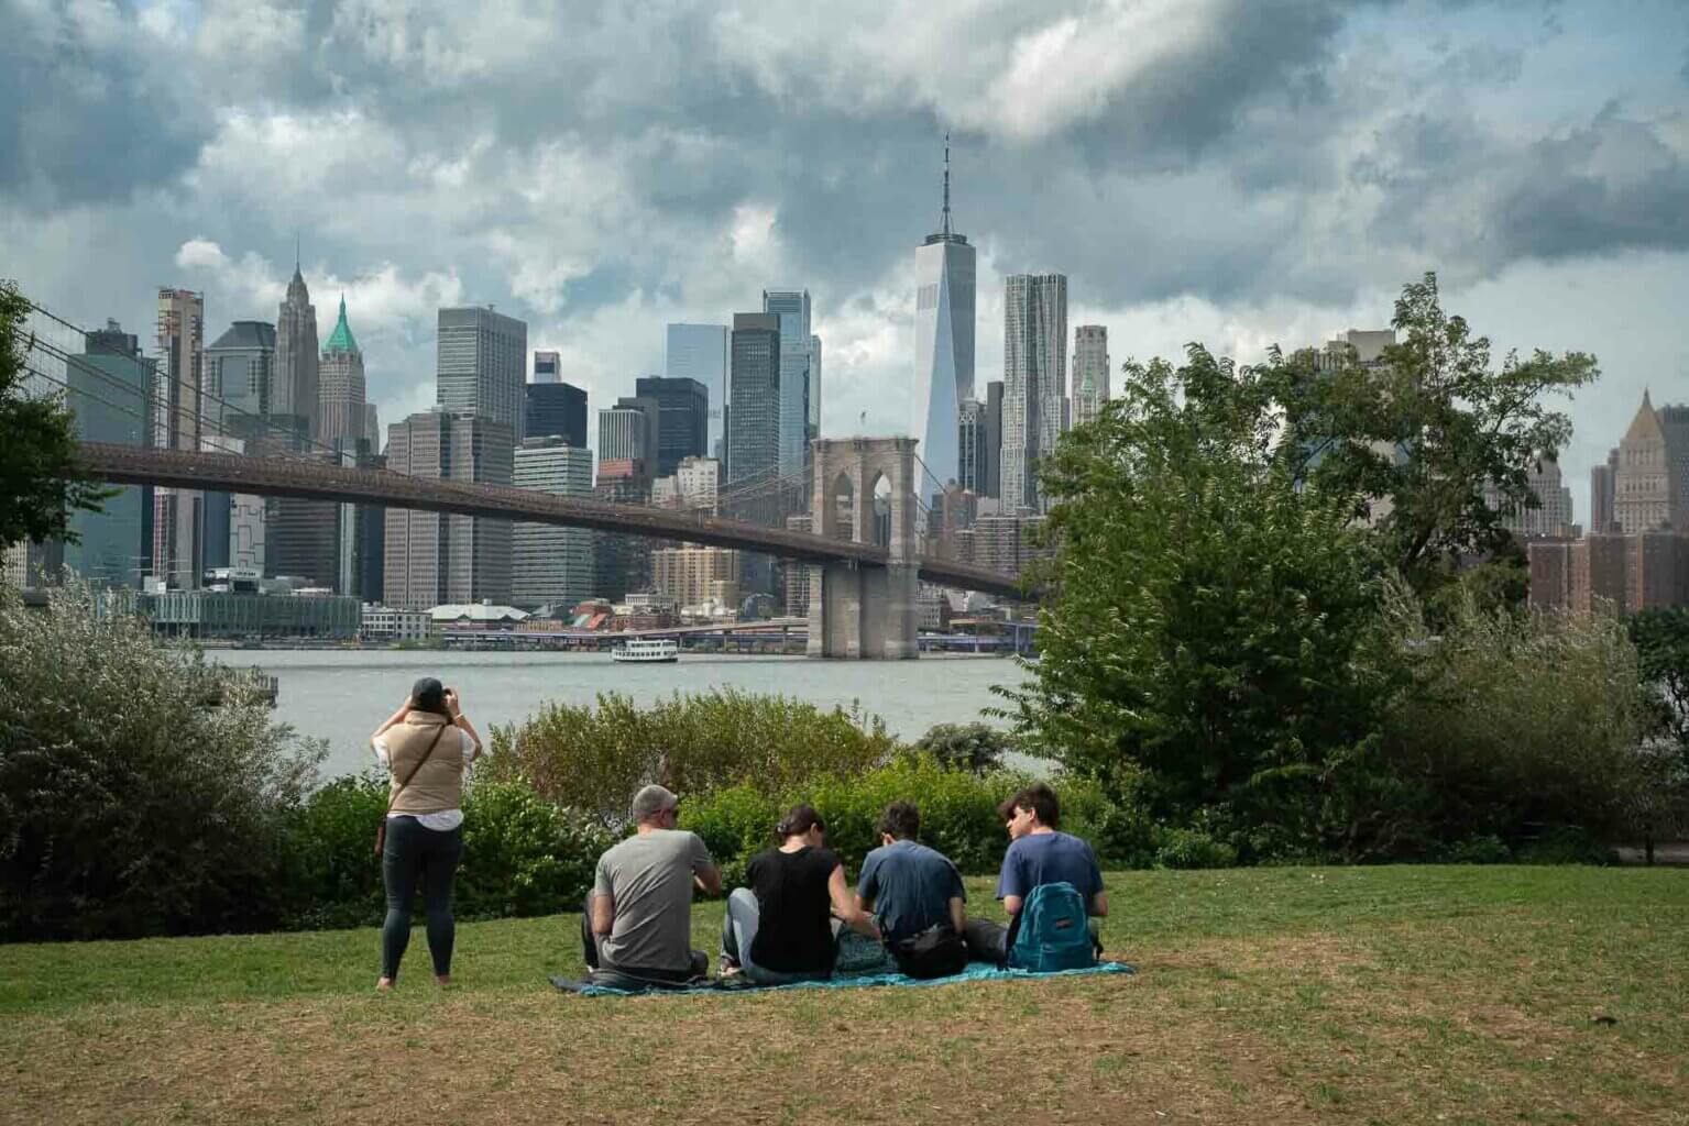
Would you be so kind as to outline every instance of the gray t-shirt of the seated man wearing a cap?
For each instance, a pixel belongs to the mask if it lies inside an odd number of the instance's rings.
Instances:
[[[686,971],[692,964],[692,874],[713,866],[696,832],[652,829],[598,858],[593,895],[615,903],[598,940],[605,966]]]

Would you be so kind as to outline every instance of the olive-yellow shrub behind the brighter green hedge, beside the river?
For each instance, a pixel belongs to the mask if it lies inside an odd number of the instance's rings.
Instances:
[[[611,692],[596,707],[544,704],[520,726],[495,728],[488,770],[622,826],[647,782],[682,797],[740,783],[774,793],[821,773],[872,770],[895,750],[880,719],[782,696],[728,689],[640,709]]]

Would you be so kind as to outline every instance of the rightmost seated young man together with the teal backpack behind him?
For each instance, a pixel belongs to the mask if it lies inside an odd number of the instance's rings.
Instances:
[[[968,952],[985,962],[1035,971],[1096,964],[1103,947],[1094,920],[1108,915],[1096,853],[1056,827],[1061,804],[1042,782],[1008,798],[997,812],[1010,839],[997,898],[1010,922],[1000,927],[986,918],[968,920]]]

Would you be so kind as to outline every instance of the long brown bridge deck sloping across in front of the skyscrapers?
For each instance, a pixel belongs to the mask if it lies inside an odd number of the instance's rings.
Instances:
[[[387,508],[451,512],[466,517],[554,523],[659,540],[736,547],[816,564],[850,562],[863,567],[883,567],[888,560],[883,547],[833,540],[811,532],[765,528],[743,520],[616,505],[584,496],[552,496],[507,485],[432,481],[390,469],[355,469],[292,457],[196,454],[108,442],[83,442],[79,456],[90,476],[111,485],[221,490],[260,496],[302,496]],[[932,555],[919,555],[917,560],[921,577],[929,582],[1002,598],[1025,598],[1020,586],[1002,572]]]

